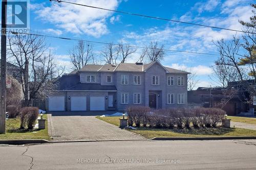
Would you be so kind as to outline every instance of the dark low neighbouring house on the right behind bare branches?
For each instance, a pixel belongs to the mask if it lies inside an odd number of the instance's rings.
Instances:
[[[245,81],[245,87],[250,81]],[[187,92],[189,106],[220,107],[228,115],[254,115],[255,106],[248,103],[249,92],[241,82],[229,82],[227,87],[199,87]],[[225,101],[225,102],[223,102]]]

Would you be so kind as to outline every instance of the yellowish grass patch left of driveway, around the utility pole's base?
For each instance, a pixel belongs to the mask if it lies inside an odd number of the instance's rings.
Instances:
[[[47,119],[47,114],[44,114],[44,118]],[[19,130],[20,119],[10,118],[6,120],[6,134],[0,134],[1,139],[47,139],[48,136],[48,124],[46,120],[46,129],[43,130]]]

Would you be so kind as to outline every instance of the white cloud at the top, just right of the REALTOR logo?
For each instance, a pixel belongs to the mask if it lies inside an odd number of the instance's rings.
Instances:
[[[72,2],[84,4],[82,0]],[[114,10],[117,8],[118,2],[118,0],[88,0],[86,5]],[[100,37],[109,32],[106,27],[106,18],[110,17],[113,12],[67,3],[61,3],[58,6],[53,2],[50,7],[36,9],[35,13],[38,18],[53,23],[57,28],[64,29],[67,32]]]

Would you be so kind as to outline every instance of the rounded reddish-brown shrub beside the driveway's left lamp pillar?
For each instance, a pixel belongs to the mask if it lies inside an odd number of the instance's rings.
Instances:
[[[20,110],[20,129],[33,129],[38,117],[37,107],[24,107]]]

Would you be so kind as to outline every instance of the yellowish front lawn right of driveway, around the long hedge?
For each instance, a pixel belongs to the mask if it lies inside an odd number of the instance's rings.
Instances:
[[[99,117],[110,124],[119,126],[119,118],[122,116]],[[256,136],[256,131],[240,128],[201,128],[201,129],[151,129],[137,128],[130,130],[146,138],[153,137],[203,137],[203,136]]]

